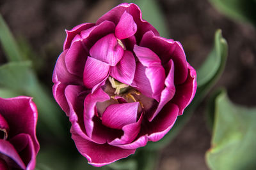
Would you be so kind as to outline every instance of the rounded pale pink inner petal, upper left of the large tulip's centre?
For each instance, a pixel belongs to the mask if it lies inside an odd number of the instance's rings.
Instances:
[[[99,39],[90,49],[91,57],[116,66],[124,54],[124,49],[119,45],[114,34],[108,34]]]

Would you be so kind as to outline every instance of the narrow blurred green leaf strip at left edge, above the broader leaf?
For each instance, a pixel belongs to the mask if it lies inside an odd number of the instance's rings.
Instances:
[[[22,53],[20,53],[19,47],[12,32],[8,28],[8,25],[4,22],[2,15],[0,14],[0,42],[3,46],[4,53],[9,61],[22,60]]]

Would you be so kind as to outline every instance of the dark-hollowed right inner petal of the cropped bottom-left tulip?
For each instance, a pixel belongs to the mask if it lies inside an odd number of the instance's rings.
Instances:
[[[36,153],[33,145],[33,141],[28,134],[18,134],[10,140],[10,143],[15,147],[26,169],[35,169]]]

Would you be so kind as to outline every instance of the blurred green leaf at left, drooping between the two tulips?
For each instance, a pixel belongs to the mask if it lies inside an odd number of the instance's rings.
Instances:
[[[58,137],[62,135],[60,109],[52,97],[49,97],[49,92],[38,82],[31,69],[31,62],[9,62],[0,66],[0,87],[12,90],[13,94],[33,96],[33,101],[38,108],[40,132],[51,131]],[[45,128],[48,131],[44,131]]]

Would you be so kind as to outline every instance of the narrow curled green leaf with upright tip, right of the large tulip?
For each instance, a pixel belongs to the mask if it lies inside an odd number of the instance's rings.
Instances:
[[[227,52],[227,42],[221,36],[221,30],[217,30],[214,36],[214,47],[212,48],[211,53],[209,53],[204,64],[202,64],[202,66],[196,71],[198,88],[193,101],[191,104],[189,104],[188,108],[184,110],[183,115],[177,118],[177,121],[173,125],[170,132],[168,132],[168,134],[166,134],[160,141],[148,143],[148,145],[145,146],[145,149],[157,150],[159,148],[164,148],[177,135],[180,129],[184,127],[196,106],[200,104],[209,90],[211,90],[215,83],[219,80],[225,68]]]

